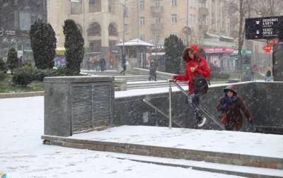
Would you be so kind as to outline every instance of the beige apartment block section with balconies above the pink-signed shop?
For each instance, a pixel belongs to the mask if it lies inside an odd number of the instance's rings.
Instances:
[[[129,20],[138,19],[138,23],[129,23],[134,24],[129,28],[136,28],[134,31],[141,40],[163,46],[164,39],[173,34],[186,45],[200,45],[216,66],[223,67],[222,61],[231,59],[236,43],[229,37],[228,1],[137,0],[136,3],[134,11],[138,13],[131,14]]]

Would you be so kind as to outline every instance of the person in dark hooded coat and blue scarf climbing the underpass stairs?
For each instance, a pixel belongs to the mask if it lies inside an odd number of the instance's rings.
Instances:
[[[225,130],[227,131],[238,131],[243,125],[243,114],[249,121],[249,124],[253,124],[253,117],[248,112],[248,108],[243,103],[240,97],[233,87],[229,85],[224,89],[224,96],[220,98],[219,105],[217,105],[217,110],[222,113],[226,113],[226,124]]]

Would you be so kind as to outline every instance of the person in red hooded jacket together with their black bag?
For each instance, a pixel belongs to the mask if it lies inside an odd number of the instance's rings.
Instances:
[[[188,81],[189,93],[191,97],[188,102],[193,107],[197,126],[203,126],[207,120],[200,113],[200,95],[207,93],[207,78],[210,76],[209,66],[204,57],[200,57],[199,47],[197,45],[189,45],[185,48],[182,55],[185,61],[185,73],[183,75],[175,75],[172,77],[174,81]]]

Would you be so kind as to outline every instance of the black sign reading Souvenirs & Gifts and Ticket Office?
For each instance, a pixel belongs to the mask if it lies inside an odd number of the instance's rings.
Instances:
[[[283,39],[283,16],[246,18],[246,39]]]

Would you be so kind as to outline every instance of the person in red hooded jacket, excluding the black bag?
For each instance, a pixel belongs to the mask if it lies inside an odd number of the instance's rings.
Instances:
[[[192,96],[192,100],[189,100],[189,102],[194,109],[197,126],[203,126],[206,118],[200,113],[200,110],[197,109],[200,105],[200,95],[202,93],[195,93],[192,81],[193,78],[198,75],[202,75],[204,78],[209,78],[210,70],[204,57],[200,57],[199,51],[197,45],[189,45],[185,48],[182,55],[182,58],[185,61],[185,73],[183,75],[175,75],[172,79],[174,81],[188,81],[189,93]]]

